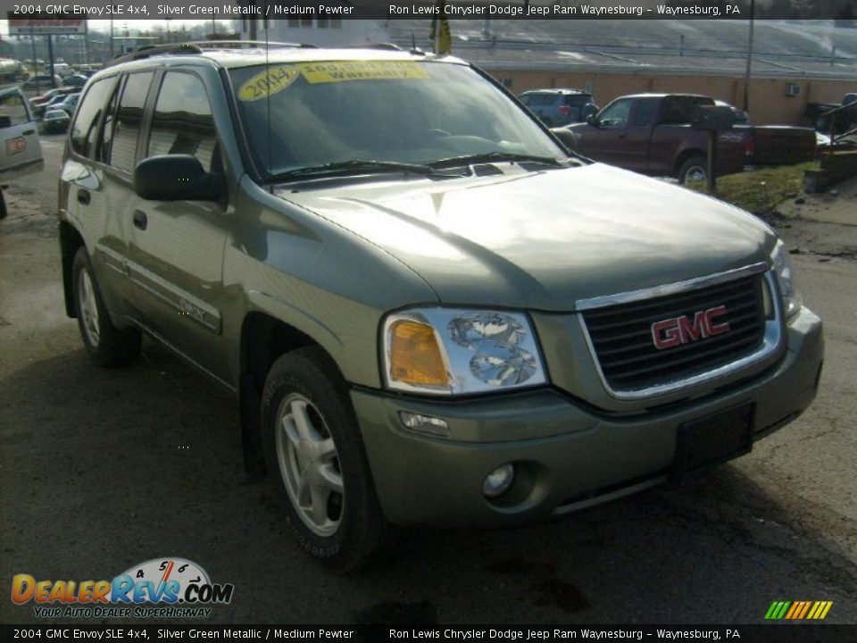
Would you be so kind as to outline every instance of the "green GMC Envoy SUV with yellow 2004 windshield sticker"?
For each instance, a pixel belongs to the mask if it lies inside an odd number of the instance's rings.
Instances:
[[[720,463],[816,393],[823,340],[750,214],[571,156],[450,57],[229,43],[87,84],[66,311],[233,391],[248,472],[341,569],[411,525],[545,521]]]

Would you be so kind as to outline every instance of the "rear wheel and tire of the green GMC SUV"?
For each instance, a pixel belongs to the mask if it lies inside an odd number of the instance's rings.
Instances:
[[[137,329],[119,330],[113,326],[104,305],[87,249],[78,248],[72,264],[71,288],[74,310],[78,315],[80,337],[97,366],[126,366],[140,354],[142,337]]]

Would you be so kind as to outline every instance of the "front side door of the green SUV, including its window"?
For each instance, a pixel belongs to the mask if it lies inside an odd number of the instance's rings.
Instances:
[[[143,157],[193,154],[205,171],[223,172],[205,83],[167,71],[154,105]],[[222,335],[223,204],[147,201],[133,196],[129,271],[146,326],[197,365],[228,380]]]

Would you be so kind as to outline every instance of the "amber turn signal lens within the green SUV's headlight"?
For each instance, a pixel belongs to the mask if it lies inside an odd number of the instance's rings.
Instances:
[[[395,321],[390,327],[390,380],[413,386],[446,386],[444,358],[435,331],[419,321]]]

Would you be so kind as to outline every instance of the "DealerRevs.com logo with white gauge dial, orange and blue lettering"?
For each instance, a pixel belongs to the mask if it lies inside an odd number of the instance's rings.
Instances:
[[[34,603],[38,618],[205,618],[210,605],[228,604],[234,590],[231,583],[212,583],[202,567],[184,558],[154,558],[112,580],[12,577],[12,602]]]

